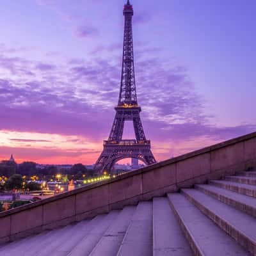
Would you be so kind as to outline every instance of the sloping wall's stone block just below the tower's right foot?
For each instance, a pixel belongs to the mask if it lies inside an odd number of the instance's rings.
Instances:
[[[164,188],[176,183],[176,164],[159,167],[142,173],[143,193]]]

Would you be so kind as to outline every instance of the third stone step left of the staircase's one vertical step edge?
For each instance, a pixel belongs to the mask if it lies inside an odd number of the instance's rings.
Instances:
[[[120,211],[111,211],[104,216],[103,220],[95,227],[68,253],[68,256],[87,256],[90,255],[95,245],[100,241],[109,226],[118,218]]]

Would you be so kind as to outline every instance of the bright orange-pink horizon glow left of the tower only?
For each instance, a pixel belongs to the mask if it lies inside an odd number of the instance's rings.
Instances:
[[[13,154],[17,163],[92,164],[102,144],[82,136],[0,131],[0,160]]]

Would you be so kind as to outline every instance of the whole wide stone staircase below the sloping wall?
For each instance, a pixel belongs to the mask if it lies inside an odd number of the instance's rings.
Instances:
[[[0,256],[256,255],[256,172],[210,180],[0,247]]]

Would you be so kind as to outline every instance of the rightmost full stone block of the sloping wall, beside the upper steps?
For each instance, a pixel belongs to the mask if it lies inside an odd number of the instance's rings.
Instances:
[[[228,147],[211,152],[211,172],[228,168],[244,161],[244,142],[239,142]]]

